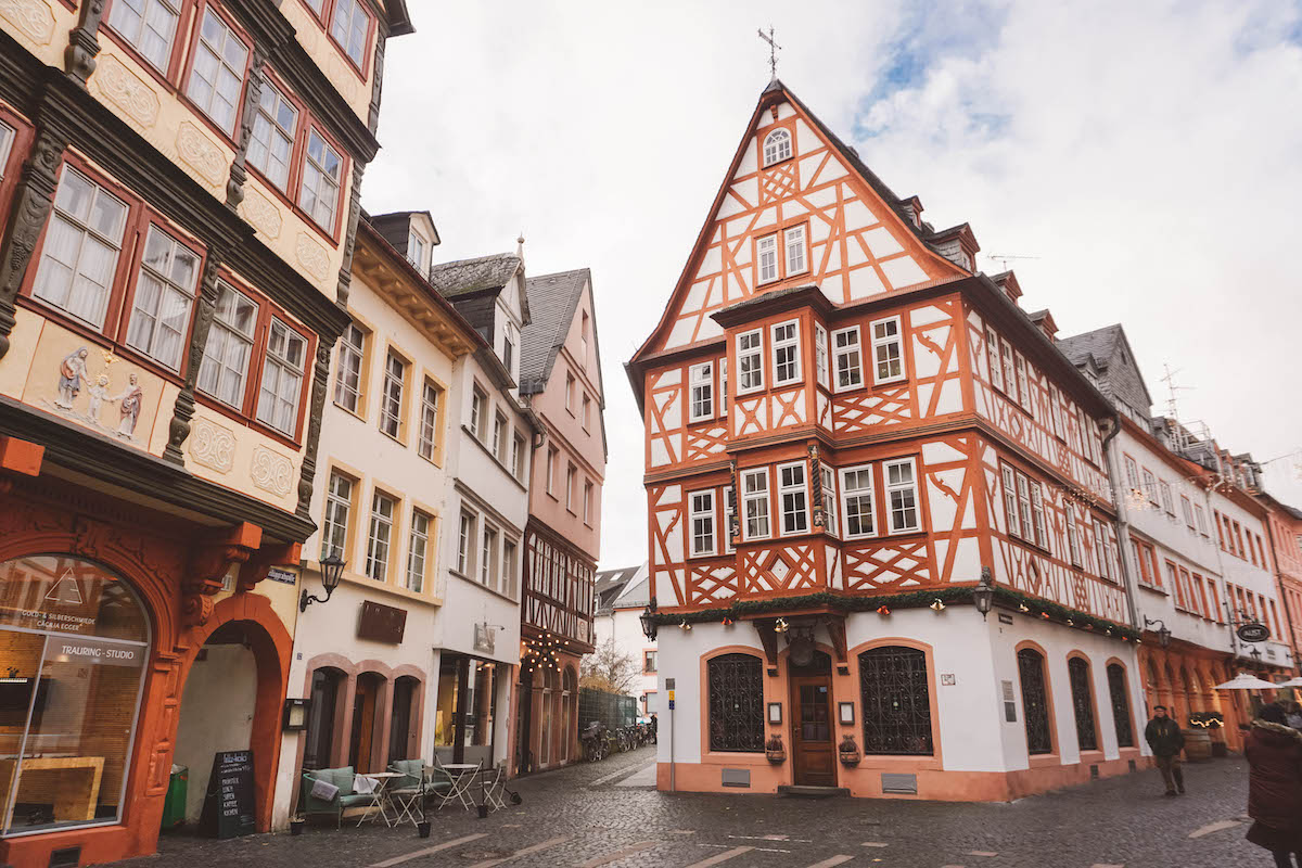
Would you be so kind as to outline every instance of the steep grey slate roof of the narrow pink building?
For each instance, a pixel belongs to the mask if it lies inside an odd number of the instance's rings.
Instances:
[[[529,295],[530,324],[519,333],[519,393],[535,394],[547,388],[547,380],[556,364],[556,355],[565,344],[574,311],[583,295],[583,288],[592,282],[587,268],[540,275],[525,281]],[[592,350],[596,350],[596,306],[592,306]],[[602,359],[596,355],[598,384]],[[604,392],[604,389],[603,389]],[[600,401],[605,406],[605,398]]]

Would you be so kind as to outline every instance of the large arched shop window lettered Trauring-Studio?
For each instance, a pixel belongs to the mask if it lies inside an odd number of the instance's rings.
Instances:
[[[148,619],[135,593],[68,556],[0,563],[4,834],[121,821]]]

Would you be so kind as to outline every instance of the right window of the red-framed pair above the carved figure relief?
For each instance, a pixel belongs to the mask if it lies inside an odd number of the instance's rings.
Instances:
[[[135,282],[135,298],[132,301],[126,342],[173,371],[180,371],[198,278],[198,255],[151,224],[145,241],[141,275]]]

